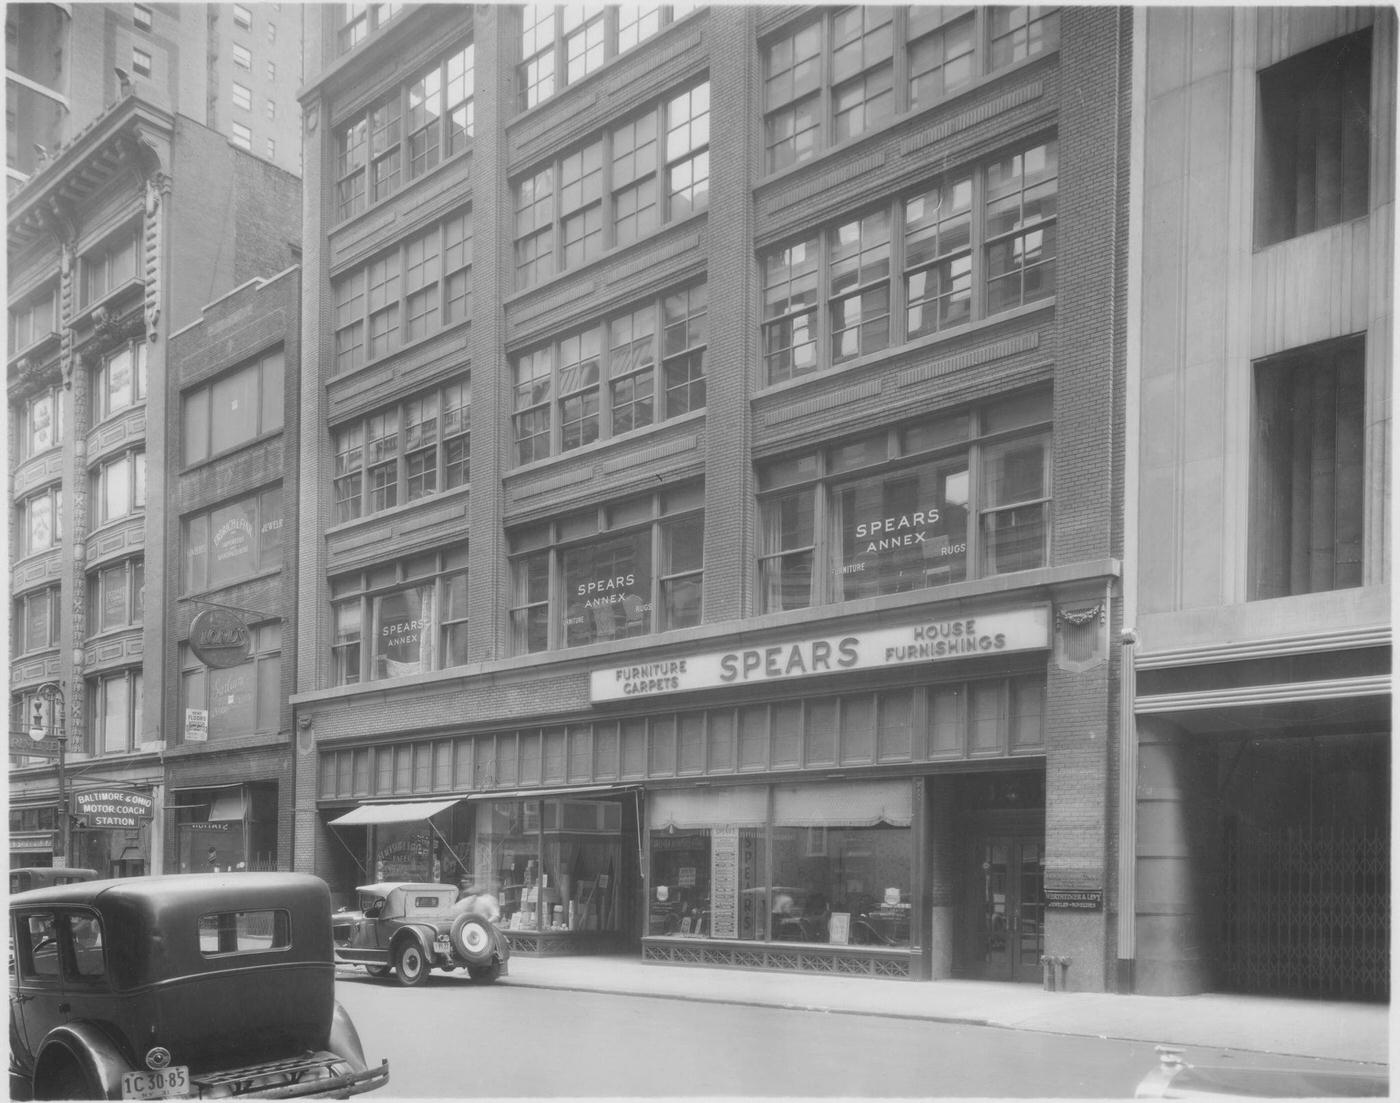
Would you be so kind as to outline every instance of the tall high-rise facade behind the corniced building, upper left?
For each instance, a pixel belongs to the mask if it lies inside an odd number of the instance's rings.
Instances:
[[[301,172],[301,4],[6,4],[14,192],[126,90]]]

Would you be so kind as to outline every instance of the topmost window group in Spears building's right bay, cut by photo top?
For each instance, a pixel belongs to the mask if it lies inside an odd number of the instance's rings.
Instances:
[[[1060,45],[1046,7],[848,7],[763,45],[769,172]]]

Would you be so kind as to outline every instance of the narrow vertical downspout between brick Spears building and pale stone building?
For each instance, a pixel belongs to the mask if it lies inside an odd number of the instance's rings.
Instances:
[[[1138,448],[1142,342],[1142,160],[1147,125],[1148,10],[1133,8],[1128,241],[1123,370],[1123,637],[1119,694],[1119,992],[1134,991],[1137,962],[1137,614]]]

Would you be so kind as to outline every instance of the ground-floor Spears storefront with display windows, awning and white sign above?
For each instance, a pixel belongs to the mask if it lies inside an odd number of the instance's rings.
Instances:
[[[596,669],[570,722],[322,749],[328,879],[491,892],[524,952],[1039,980],[1049,647],[1049,606],[988,610]]]

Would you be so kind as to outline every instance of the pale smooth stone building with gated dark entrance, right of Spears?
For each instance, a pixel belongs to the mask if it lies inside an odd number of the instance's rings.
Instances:
[[[1385,999],[1394,11],[1135,22],[1120,987]]]

